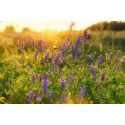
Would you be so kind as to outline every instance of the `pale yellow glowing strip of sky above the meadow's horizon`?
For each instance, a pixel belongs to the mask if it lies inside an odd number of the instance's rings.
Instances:
[[[87,26],[93,24],[94,21],[75,21],[73,26],[74,30],[83,30]],[[28,27],[32,30],[41,31],[45,29],[51,30],[68,30],[71,21],[4,21],[0,23],[0,30],[4,30],[6,26],[12,25],[17,31],[21,31],[24,27]]]

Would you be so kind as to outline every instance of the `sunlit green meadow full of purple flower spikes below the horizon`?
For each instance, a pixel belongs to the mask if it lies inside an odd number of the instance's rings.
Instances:
[[[125,103],[123,51],[125,32],[0,33],[0,103]]]

